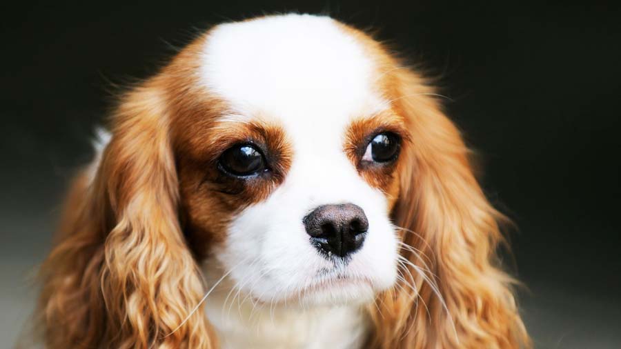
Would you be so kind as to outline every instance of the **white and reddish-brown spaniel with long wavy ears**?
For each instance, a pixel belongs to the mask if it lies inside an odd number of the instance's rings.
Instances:
[[[434,89],[328,17],[132,88],[43,270],[48,348],[522,348],[503,220]]]

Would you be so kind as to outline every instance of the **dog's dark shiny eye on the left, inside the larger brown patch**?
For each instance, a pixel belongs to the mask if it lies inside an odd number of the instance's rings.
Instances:
[[[263,154],[250,144],[228,148],[221,154],[219,163],[226,172],[235,176],[250,176],[265,170]]]

